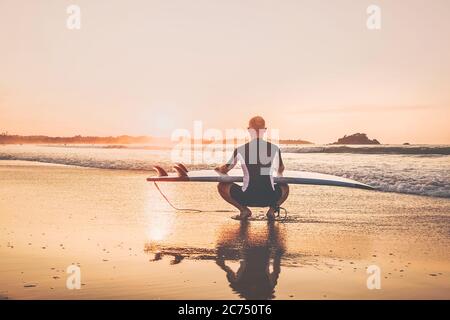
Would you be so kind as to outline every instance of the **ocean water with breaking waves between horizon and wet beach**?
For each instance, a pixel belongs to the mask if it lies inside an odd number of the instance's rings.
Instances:
[[[286,169],[333,174],[380,191],[450,198],[449,145],[281,145]],[[211,150],[211,146],[207,146]],[[149,171],[184,162],[190,170],[212,169],[228,159],[232,146],[193,148],[181,155],[152,145],[0,145],[0,160],[24,160],[89,168]],[[188,150],[189,151],[189,150]],[[195,161],[194,161],[195,160]]]

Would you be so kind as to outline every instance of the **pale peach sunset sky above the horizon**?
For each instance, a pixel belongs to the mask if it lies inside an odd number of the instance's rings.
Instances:
[[[448,0],[0,0],[0,132],[170,136],[261,115],[281,138],[450,143],[449,16]]]

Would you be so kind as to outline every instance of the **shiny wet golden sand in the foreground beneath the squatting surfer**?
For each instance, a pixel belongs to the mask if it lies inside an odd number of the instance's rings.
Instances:
[[[450,199],[293,186],[285,221],[240,223],[147,175],[0,161],[0,299],[450,299]]]

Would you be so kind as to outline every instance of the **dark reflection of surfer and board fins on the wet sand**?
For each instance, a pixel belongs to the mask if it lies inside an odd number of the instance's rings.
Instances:
[[[181,263],[184,258],[214,260],[226,273],[231,289],[241,298],[273,299],[285,242],[276,223],[254,227],[241,222],[222,228],[214,249],[146,244],[145,251],[154,254],[150,261],[171,256],[171,264]],[[230,261],[239,261],[236,271],[229,265]]]

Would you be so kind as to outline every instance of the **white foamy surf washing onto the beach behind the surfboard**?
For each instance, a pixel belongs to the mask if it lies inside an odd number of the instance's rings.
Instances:
[[[381,191],[450,198],[450,156],[412,154],[284,153],[289,170],[350,178]],[[2,146],[0,160],[25,160],[73,166],[148,170],[170,168],[168,150]],[[211,165],[190,166],[211,169]]]

